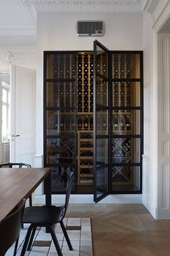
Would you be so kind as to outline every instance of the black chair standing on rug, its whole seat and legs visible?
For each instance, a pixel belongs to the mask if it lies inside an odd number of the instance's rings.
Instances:
[[[63,234],[66,237],[66,242],[70,250],[73,250],[70,239],[68,237],[66,228],[63,224],[63,218],[66,215],[68,202],[71,195],[71,184],[73,181],[73,172],[69,176],[66,187],[66,201],[65,204],[57,207],[55,205],[32,206],[24,209],[23,223],[31,223],[27,230],[27,235],[22,248],[21,256],[24,256],[26,249],[29,251],[32,246],[32,241],[35,236],[37,227],[45,227],[51,234],[58,256],[63,256],[61,247],[58,244],[58,239],[55,235],[55,224],[60,223]],[[30,241],[30,242],[29,242]]]

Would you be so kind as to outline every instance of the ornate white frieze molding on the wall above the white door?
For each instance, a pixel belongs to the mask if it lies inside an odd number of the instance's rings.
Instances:
[[[0,46],[0,64],[35,64],[35,46]]]

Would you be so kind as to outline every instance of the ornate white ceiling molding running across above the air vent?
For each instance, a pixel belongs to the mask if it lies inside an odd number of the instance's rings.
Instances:
[[[141,0],[22,0],[36,24],[37,12],[142,12]]]

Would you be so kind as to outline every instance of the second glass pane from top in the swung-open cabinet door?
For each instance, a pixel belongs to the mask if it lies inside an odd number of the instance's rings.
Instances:
[[[107,97],[107,81],[104,81],[101,77],[97,77],[97,85],[96,85],[96,97],[97,97],[97,105],[108,105],[108,97]]]

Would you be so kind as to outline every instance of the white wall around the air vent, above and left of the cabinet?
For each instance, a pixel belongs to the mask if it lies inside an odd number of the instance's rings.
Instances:
[[[77,20],[103,20],[104,37],[78,37]],[[143,50],[142,13],[37,13],[37,158],[43,153],[43,51],[92,51],[97,39],[109,50]]]

